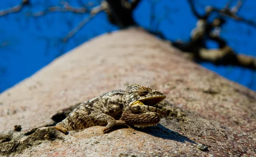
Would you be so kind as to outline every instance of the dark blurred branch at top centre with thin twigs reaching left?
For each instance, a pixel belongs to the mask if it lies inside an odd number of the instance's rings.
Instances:
[[[64,2],[62,6],[52,6],[43,11],[35,13],[27,13],[27,16],[40,17],[49,12],[73,12],[77,14],[89,13],[89,17],[85,17],[78,26],[72,29],[66,37],[62,40],[65,42],[68,38],[76,34],[91,18],[93,18],[100,11],[105,11],[108,14],[108,19],[111,23],[116,24],[120,28],[136,25],[132,17],[132,11],[138,6],[140,0],[102,0],[99,6],[95,6],[90,10],[87,7],[74,7],[69,3]],[[10,9],[0,11],[1,15],[10,14],[20,11],[23,6],[29,4],[29,0],[23,0],[20,5],[14,6]],[[85,6],[85,5],[84,5]]]

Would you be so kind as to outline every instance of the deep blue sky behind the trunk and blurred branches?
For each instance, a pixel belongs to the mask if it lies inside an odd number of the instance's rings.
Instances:
[[[0,10],[19,4],[21,0],[0,1]],[[67,42],[62,39],[88,14],[72,12],[50,12],[40,17],[30,14],[51,6],[61,6],[60,0],[30,0],[30,5],[21,11],[0,17],[0,92],[31,76],[56,57],[108,31],[117,30],[101,12],[93,17]],[[89,0],[67,0],[71,6],[81,7]],[[90,5],[96,6],[98,1]],[[222,8],[227,0],[195,0],[196,9],[204,13],[205,6]],[[255,0],[247,0],[238,12],[239,16],[255,19]],[[151,17],[151,18],[150,18]],[[196,18],[186,0],[142,0],[134,11],[134,19],[146,29],[161,31],[169,40],[189,40]],[[256,28],[227,20],[221,37],[238,53],[256,56]],[[213,43],[208,46],[214,48]],[[237,66],[214,66],[201,63],[204,67],[256,90],[256,71]]]

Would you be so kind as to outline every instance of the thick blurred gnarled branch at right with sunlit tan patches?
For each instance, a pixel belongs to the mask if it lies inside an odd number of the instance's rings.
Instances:
[[[223,16],[230,17],[234,20],[242,21],[248,24],[247,20],[238,17],[236,13],[241,9],[243,2],[238,0],[236,6],[230,9],[231,0],[226,4],[223,9],[216,9],[212,6],[205,8],[205,14],[200,16],[195,9],[193,0],[188,0],[192,13],[198,17],[196,27],[191,31],[189,42],[173,42],[172,45],[178,49],[186,52],[185,56],[192,60],[208,61],[216,65],[236,65],[250,69],[256,69],[256,58],[243,54],[236,54],[233,49],[227,45],[226,40],[220,37],[221,27],[226,20]],[[209,16],[212,12],[218,12],[219,17],[215,17],[211,22]],[[255,23],[250,23],[256,26]],[[218,31],[217,31],[218,30]],[[212,40],[218,43],[218,49],[207,49],[206,42]]]

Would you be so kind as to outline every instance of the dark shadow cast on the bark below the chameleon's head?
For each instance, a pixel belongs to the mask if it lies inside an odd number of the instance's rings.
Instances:
[[[159,137],[162,139],[166,140],[175,140],[177,142],[182,142],[184,143],[189,142],[189,143],[194,143],[197,144],[195,141],[190,140],[188,137],[183,136],[182,134],[179,134],[175,131],[170,130],[169,128],[164,127],[161,124],[157,124],[157,126],[154,127],[146,127],[146,128],[135,128],[135,130],[145,132],[146,134],[150,134],[154,137]]]

